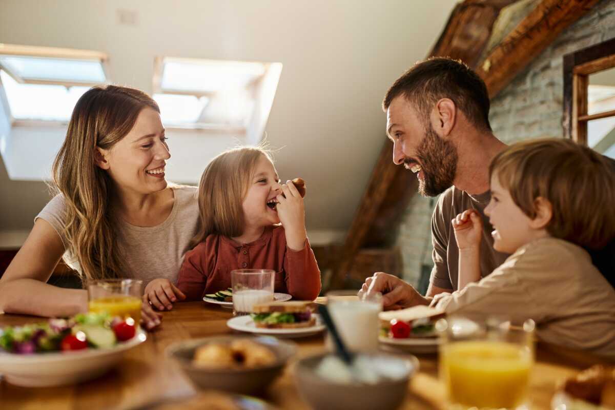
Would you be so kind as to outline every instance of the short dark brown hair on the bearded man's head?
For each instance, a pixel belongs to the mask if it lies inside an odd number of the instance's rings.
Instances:
[[[491,131],[485,82],[461,61],[442,57],[419,61],[391,85],[384,97],[384,111],[399,95],[414,104],[426,124],[435,104],[450,98],[475,127]]]

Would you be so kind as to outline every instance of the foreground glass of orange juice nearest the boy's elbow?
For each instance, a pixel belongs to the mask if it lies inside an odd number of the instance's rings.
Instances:
[[[534,327],[533,320],[522,327],[459,317],[438,321],[440,378],[450,408],[527,409]]]

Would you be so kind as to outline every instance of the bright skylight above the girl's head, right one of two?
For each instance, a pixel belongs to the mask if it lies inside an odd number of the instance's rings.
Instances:
[[[264,125],[260,108],[266,121],[281,71],[281,63],[161,57],[153,97],[165,126],[246,135]]]

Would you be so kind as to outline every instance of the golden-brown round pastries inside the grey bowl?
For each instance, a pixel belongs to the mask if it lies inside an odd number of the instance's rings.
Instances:
[[[193,363],[201,368],[258,368],[272,365],[276,355],[267,347],[247,339],[231,344],[208,343],[194,352]]]

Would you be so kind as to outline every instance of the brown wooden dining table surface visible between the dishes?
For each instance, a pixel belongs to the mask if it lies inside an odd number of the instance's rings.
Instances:
[[[316,302],[323,302],[323,299]],[[232,318],[232,311],[205,302],[183,302],[163,315],[159,329],[148,333],[143,344],[125,353],[121,365],[98,379],[49,388],[17,387],[3,379],[0,409],[133,409],[196,394],[196,387],[172,360],[165,357],[164,350],[177,341],[236,333],[226,325]],[[44,321],[44,318],[0,314],[0,327],[37,321]],[[280,409],[309,409],[294,384],[293,361],[325,350],[323,339],[322,334],[293,339],[298,344],[296,357],[286,366],[282,376],[263,392],[261,400]],[[402,409],[445,409],[446,393],[438,380],[437,354],[416,357],[419,371],[408,384]],[[531,408],[549,409],[557,385],[596,361],[598,358],[581,352],[538,344],[530,378]]]

